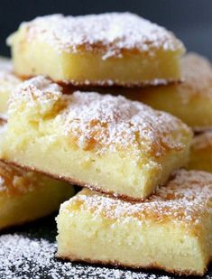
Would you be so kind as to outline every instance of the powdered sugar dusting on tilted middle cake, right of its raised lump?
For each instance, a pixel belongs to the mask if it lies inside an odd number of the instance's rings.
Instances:
[[[160,156],[167,149],[184,148],[176,131],[189,133],[187,126],[168,114],[121,96],[95,92],[74,92],[56,121],[63,123],[65,135],[73,135],[79,147],[96,146],[100,152],[134,148]]]

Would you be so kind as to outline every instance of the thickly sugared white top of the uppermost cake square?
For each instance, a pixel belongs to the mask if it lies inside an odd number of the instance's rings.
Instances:
[[[101,51],[103,59],[121,55],[124,50],[183,49],[172,33],[130,13],[52,14],[23,23],[21,28],[26,31],[29,41],[39,39],[58,51]]]

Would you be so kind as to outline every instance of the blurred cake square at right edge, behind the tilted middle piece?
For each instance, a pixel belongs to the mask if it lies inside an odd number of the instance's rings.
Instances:
[[[212,126],[211,63],[196,53],[189,53],[181,58],[180,64],[184,80],[181,84],[115,90],[115,93],[169,112],[194,130],[206,130]]]

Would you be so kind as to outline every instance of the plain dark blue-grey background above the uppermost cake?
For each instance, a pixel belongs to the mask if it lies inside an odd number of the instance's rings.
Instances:
[[[212,0],[0,0],[0,55],[9,55],[5,38],[19,23],[43,14],[97,14],[131,11],[172,30],[189,51],[212,60]]]

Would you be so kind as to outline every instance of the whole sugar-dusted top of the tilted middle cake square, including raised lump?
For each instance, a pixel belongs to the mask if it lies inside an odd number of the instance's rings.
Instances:
[[[38,116],[51,135],[62,135],[69,143],[98,153],[127,148],[139,157],[141,153],[160,157],[185,148],[191,137],[189,127],[167,113],[121,96],[80,91],[64,95],[62,88],[43,77],[17,87],[10,100],[11,113],[27,113],[24,117],[32,115],[33,121]]]

